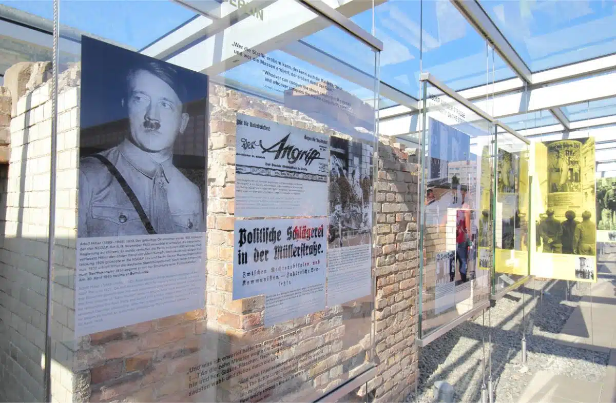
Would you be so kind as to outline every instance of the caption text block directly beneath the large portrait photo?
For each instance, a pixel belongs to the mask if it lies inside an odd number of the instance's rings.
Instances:
[[[75,336],[205,305],[206,234],[77,240]]]

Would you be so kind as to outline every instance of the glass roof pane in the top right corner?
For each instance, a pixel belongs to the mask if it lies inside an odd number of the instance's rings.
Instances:
[[[616,52],[614,1],[479,2],[533,72]]]

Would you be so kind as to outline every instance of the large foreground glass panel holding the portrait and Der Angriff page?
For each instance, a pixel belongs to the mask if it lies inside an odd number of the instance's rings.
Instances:
[[[378,55],[293,0],[159,3],[60,2],[90,29],[59,71],[52,388],[314,401],[375,366]]]

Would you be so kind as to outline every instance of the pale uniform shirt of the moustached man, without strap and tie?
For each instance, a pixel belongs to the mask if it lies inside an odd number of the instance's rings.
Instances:
[[[124,177],[150,218],[153,205],[153,179],[159,169],[148,153],[124,140],[120,145],[102,151]],[[166,181],[166,192],[174,233],[204,231],[203,205],[197,186],[176,167],[171,158],[160,164]],[[93,157],[83,158],[79,166],[78,236],[123,236],[147,234],[144,223],[118,180],[107,167]]]

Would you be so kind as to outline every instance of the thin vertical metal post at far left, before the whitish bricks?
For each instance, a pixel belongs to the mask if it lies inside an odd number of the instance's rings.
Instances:
[[[51,98],[51,164],[49,177],[49,233],[47,236],[47,307],[45,324],[45,401],[51,402],[51,321],[52,321],[52,284],[54,281],[54,245],[55,245],[55,180],[57,154],[57,116],[58,116],[58,37],[60,35],[60,0],[54,0],[54,49],[52,61],[52,98]]]

